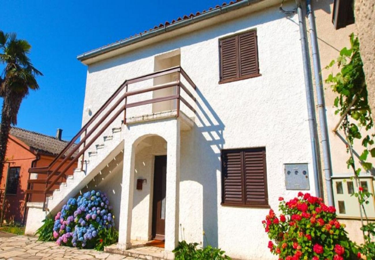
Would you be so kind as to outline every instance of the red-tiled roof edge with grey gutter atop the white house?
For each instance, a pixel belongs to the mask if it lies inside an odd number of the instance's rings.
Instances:
[[[173,19],[172,21],[165,21],[164,23],[160,23],[159,25],[155,25],[153,28],[150,28],[148,30],[144,30],[143,32],[136,33],[135,35],[129,36],[129,37],[124,38],[124,39],[120,39],[116,42],[104,45],[100,48],[96,48],[96,49],[87,51],[83,54],[78,55],[77,59],[82,61],[82,60],[87,59],[89,57],[98,55],[99,51],[100,52],[102,52],[104,50],[110,51],[111,48],[120,48],[120,47],[126,45],[126,42],[131,41],[134,38],[139,38],[139,37],[140,38],[147,38],[147,37],[145,37],[145,35],[150,35],[150,33],[154,32],[156,30],[166,29],[167,27],[171,26],[172,24],[183,23],[186,20],[192,20],[192,18],[195,19],[195,18],[198,18],[201,15],[203,16],[203,14],[206,14],[206,13],[212,13],[212,16],[213,15],[219,15],[219,14],[221,14],[221,12],[217,12],[217,11],[220,11],[220,9],[222,9],[222,8],[227,8],[228,6],[229,6],[229,8],[231,8],[231,7],[234,7],[235,5],[238,5],[238,8],[241,8],[243,6],[250,5],[251,3],[256,3],[256,2],[261,2],[261,1],[262,0],[233,0],[233,1],[230,1],[228,3],[224,2],[221,5],[216,5],[215,7],[210,7],[207,10],[203,10],[201,12],[196,12],[195,14],[190,13],[190,14],[181,15],[180,17],[178,17],[176,19]],[[244,4],[244,5],[242,5],[242,4]]]

